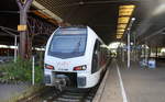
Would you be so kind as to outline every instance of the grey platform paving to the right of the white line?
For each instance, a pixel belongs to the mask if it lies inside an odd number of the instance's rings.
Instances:
[[[131,69],[120,66],[123,84],[129,102],[165,102],[165,66],[156,69]]]

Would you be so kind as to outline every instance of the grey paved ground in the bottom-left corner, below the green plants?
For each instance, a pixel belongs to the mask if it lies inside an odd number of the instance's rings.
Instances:
[[[40,92],[42,93],[47,90],[50,89],[44,86],[32,86],[29,82],[0,83],[0,102],[18,102],[18,100],[21,100],[19,102],[23,102],[22,99],[34,98],[40,95]]]

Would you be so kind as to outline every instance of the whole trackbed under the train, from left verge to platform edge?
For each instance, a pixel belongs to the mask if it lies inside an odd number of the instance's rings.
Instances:
[[[18,102],[92,102],[101,81],[90,89],[66,88],[59,91],[56,88],[48,87],[46,91]]]

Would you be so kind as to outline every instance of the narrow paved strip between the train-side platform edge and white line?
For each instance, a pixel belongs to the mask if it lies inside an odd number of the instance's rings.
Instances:
[[[122,102],[119,77],[117,72],[117,64],[112,61],[108,69],[109,75],[101,94],[100,102]]]

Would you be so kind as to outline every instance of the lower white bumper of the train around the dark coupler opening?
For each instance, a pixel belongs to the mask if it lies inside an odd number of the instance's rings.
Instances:
[[[74,75],[74,77],[70,77],[70,80],[74,80],[73,82],[76,83],[75,87],[77,88],[91,88],[95,87],[99,79],[100,79],[100,71],[97,71],[95,73],[88,73],[88,72],[58,72],[58,71],[50,71],[45,72],[45,84],[46,86],[55,86],[56,75],[63,73],[63,75]]]

